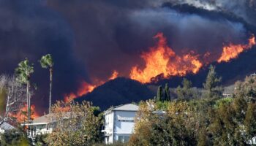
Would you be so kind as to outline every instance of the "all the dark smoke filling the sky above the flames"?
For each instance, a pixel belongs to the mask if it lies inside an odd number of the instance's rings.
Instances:
[[[46,53],[55,61],[53,100],[61,99],[83,80],[106,80],[114,70],[128,77],[132,66],[145,66],[140,54],[158,32],[177,54],[209,52],[214,61],[223,44],[246,42],[254,7],[238,0],[0,0],[0,69],[12,73],[24,58],[33,61],[34,102],[45,108],[48,71],[37,61]]]

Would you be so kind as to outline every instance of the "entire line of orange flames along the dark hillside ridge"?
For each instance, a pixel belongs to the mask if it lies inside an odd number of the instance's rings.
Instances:
[[[194,50],[190,50],[189,53],[185,53],[184,55],[177,55],[171,47],[167,46],[167,39],[163,33],[158,33],[154,36],[154,39],[158,39],[157,44],[154,47],[150,47],[148,52],[143,52],[140,55],[145,61],[144,68],[140,69],[139,66],[133,66],[129,74],[130,79],[137,80],[143,84],[151,83],[154,82],[155,77],[158,76],[170,78],[173,76],[185,76],[189,73],[197,74],[201,67],[209,64],[209,62],[204,63],[203,61],[207,60],[207,57],[209,57],[211,53],[207,52],[200,55],[195,54]],[[233,58],[237,58],[240,53],[250,49],[253,45],[255,45],[254,35],[249,38],[249,42],[246,45],[234,45],[230,43],[227,46],[223,46],[221,56],[217,59],[217,62],[227,62]],[[211,62],[214,61],[216,60]],[[116,77],[118,77],[118,72],[115,70],[108,80],[113,80]],[[69,93],[65,96],[65,101],[71,101],[72,99],[86,95],[93,91],[94,88],[104,83],[104,81],[98,80],[97,83],[93,85],[83,82],[77,93]]]

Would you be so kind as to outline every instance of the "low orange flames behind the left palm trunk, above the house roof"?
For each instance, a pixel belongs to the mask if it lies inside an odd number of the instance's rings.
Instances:
[[[27,120],[27,114],[28,110],[25,104],[17,113],[10,114],[10,117],[16,118],[19,123],[22,123]],[[37,117],[39,117],[39,114],[36,112],[36,107],[33,104],[31,105],[31,119],[33,120]]]

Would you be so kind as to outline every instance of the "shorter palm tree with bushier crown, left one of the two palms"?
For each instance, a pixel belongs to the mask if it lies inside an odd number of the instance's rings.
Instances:
[[[24,61],[21,61],[18,64],[18,67],[15,69],[16,79],[21,84],[26,84],[26,104],[28,110],[28,120],[31,118],[31,104],[30,104],[30,77],[34,72],[33,64],[29,64],[29,60],[26,58]]]

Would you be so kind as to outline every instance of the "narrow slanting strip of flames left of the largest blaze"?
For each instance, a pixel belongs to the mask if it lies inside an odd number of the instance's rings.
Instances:
[[[113,71],[113,73],[111,74],[111,76],[109,77],[108,80],[114,80],[114,79],[116,79],[116,77],[118,77],[118,72],[115,70],[115,71]],[[76,99],[76,98],[78,98],[80,96],[84,96],[87,93],[90,93],[91,91],[94,91],[94,88],[97,88],[99,85],[102,85],[105,82],[104,81],[96,80],[94,84],[89,84],[88,82],[83,81],[81,83],[80,88],[78,89],[78,91],[76,93],[69,93],[69,94],[67,94],[64,97],[64,101],[65,102],[70,102],[73,99]]]

